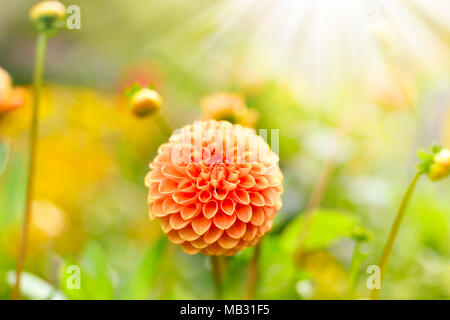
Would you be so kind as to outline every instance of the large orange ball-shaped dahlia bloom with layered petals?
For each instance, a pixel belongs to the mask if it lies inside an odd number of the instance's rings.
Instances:
[[[255,245],[281,208],[278,157],[254,130],[199,121],[160,146],[145,177],[150,219],[189,254]]]

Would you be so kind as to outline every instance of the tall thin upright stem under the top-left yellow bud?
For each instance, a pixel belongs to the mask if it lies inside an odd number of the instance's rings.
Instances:
[[[31,128],[30,128],[30,145],[29,145],[29,163],[28,163],[28,182],[26,190],[26,200],[25,200],[25,217],[23,221],[22,229],[22,239],[20,244],[19,256],[17,259],[16,266],[16,283],[13,289],[12,299],[20,298],[20,279],[25,263],[26,249],[27,249],[27,239],[28,239],[28,229],[31,220],[31,204],[33,200],[33,189],[34,189],[34,172],[36,166],[36,150],[37,150],[37,139],[39,133],[39,102],[42,86],[42,77],[44,74],[45,65],[45,52],[47,47],[47,34],[45,32],[40,32],[37,38],[36,45],[36,56],[34,64],[34,76],[33,76],[33,111],[31,118]]]

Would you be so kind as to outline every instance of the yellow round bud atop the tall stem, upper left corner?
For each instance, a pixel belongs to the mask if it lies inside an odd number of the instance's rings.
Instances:
[[[59,1],[43,1],[30,10],[30,20],[38,31],[50,31],[64,26],[66,7]]]

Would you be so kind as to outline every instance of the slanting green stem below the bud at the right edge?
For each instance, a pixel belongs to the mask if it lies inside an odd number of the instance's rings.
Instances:
[[[394,224],[392,225],[391,232],[389,233],[389,237],[384,245],[383,253],[381,255],[380,260],[380,284],[383,281],[384,273],[386,271],[386,266],[389,261],[389,256],[392,252],[392,247],[394,246],[394,241],[398,233],[398,229],[403,221],[403,217],[405,216],[406,208],[408,206],[409,200],[411,199],[411,195],[413,194],[414,188],[416,187],[417,181],[419,181],[420,176],[423,172],[417,172],[414,176],[414,179],[411,181],[408,189],[406,190],[402,202],[400,204],[400,208],[398,209],[397,216],[395,217]],[[372,289],[370,293],[370,299],[376,300],[378,299],[378,295],[380,294],[380,289]]]

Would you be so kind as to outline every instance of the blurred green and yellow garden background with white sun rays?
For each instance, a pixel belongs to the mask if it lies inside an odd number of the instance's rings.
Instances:
[[[0,0],[0,66],[27,92],[0,118],[0,299],[11,296],[23,221],[34,3]],[[280,129],[284,206],[263,239],[256,298],[368,297],[366,269],[379,261],[416,151],[450,147],[448,1],[63,3],[79,6],[81,29],[49,41],[24,298],[214,296],[207,257],[184,254],[148,219],[144,176],[168,137],[128,109],[123,91],[136,82],[160,92],[172,128],[203,118],[205,95],[232,92],[254,110],[255,128]],[[382,298],[450,298],[449,192],[449,179],[420,181]],[[356,271],[355,228],[370,235]],[[245,297],[252,252],[226,260],[226,298]],[[81,268],[79,290],[65,285],[69,265]]]

